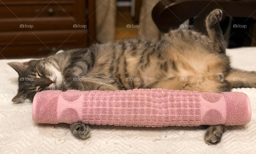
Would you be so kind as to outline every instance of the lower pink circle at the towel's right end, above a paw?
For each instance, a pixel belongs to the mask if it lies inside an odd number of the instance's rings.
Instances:
[[[207,125],[218,125],[222,121],[222,114],[216,109],[206,111],[203,120]]]

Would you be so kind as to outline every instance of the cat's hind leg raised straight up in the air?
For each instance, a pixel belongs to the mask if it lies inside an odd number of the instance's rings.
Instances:
[[[209,49],[215,53],[226,53],[224,38],[222,35],[219,22],[222,18],[222,11],[219,9],[213,10],[206,18],[206,30],[209,38],[205,38]]]

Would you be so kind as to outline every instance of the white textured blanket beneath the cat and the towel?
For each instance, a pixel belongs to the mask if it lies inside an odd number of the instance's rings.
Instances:
[[[256,71],[256,48],[227,50],[231,66]],[[208,146],[199,127],[91,126],[91,137],[76,139],[67,124],[38,124],[31,118],[30,102],[13,104],[18,74],[6,63],[29,59],[0,60],[0,153],[255,153],[256,89],[233,89],[246,93],[252,118],[245,126],[232,126],[219,144]],[[255,76],[256,77],[256,76]]]

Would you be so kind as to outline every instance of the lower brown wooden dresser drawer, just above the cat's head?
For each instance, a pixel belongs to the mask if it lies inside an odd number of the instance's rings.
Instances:
[[[60,49],[86,48],[86,33],[86,30],[1,32],[0,58],[43,57]]]

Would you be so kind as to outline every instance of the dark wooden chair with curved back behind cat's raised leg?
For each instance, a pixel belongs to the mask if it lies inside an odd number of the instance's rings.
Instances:
[[[230,23],[232,25],[247,25],[246,29],[234,29],[231,27],[231,32],[238,32],[230,38],[231,40],[233,37],[235,37],[234,39],[237,39],[237,37],[240,38],[241,34],[246,37],[245,40],[239,41],[240,44],[232,45],[231,41],[231,47],[250,46],[252,42],[251,37],[255,37],[255,28],[253,27],[256,19],[256,1],[161,0],[152,10],[152,19],[158,29],[163,33],[168,32],[170,29],[179,28],[187,19],[189,19],[189,25],[193,25],[195,30],[205,33],[204,20],[216,8],[223,10],[223,20],[221,23],[223,33],[225,33]]]

